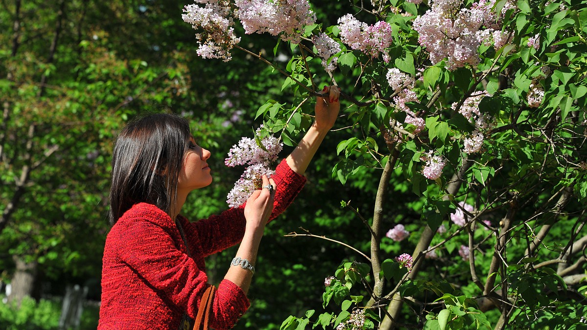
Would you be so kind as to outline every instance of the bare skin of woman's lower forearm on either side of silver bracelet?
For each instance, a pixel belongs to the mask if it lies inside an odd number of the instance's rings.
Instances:
[[[242,238],[241,245],[238,247],[237,257],[248,260],[251,265],[254,266],[257,262],[257,251],[259,250],[262,236],[262,231],[260,233],[258,230],[252,232],[246,231]],[[242,292],[247,294],[249,287],[251,286],[252,276],[253,274],[251,271],[245,270],[239,266],[231,265],[231,267],[228,268],[228,272],[224,279],[236,284],[242,289]]]

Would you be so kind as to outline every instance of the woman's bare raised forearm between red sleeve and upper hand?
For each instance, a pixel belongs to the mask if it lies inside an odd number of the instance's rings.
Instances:
[[[303,139],[299,142],[298,146],[295,147],[294,151],[286,158],[286,161],[291,169],[303,176],[308,169],[308,165],[312,160],[314,154],[318,150],[318,147],[324,140],[324,137],[328,133],[328,129],[319,129],[316,126],[316,122],[310,126],[308,132],[303,136]]]

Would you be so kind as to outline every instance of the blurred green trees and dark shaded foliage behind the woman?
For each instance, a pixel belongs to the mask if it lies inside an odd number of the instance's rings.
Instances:
[[[195,31],[181,20],[186,4],[0,2],[0,292],[12,282],[11,296],[0,297],[7,301],[0,304],[0,328],[58,328],[73,285],[87,288],[80,328],[96,327],[110,154],[127,120],[144,112],[190,119],[198,144],[212,152],[214,176],[184,207],[195,220],[227,208],[225,196],[242,169],[225,167],[224,157],[261,124],[254,120],[259,106],[267,99],[291,102],[281,92],[283,78],[244,52],[235,50],[229,63],[199,58]],[[347,2],[314,5],[318,21],[330,25],[350,11]],[[276,38],[239,35],[241,45],[273,57]],[[291,50],[279,47],[276,60],[285,67],[279,53]],[[340,201],[352,199],[369,216],[378,179],[359,173],[343,187],[332,178],[336,134],[323,143],[294,205],[266,230],[252,307],[237,329],[277,329],[287,316],[321,305],[324,278],[356,256],[342,245],[284,234],[303,227],[369,250],[369,232]],[[220,282],[234,252],[208,260],[212,282]],[[21,299],[20,309],[11,305]]]

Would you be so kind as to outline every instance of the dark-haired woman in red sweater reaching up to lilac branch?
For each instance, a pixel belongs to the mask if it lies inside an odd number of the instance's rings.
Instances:
[[[208,287],[204,257],[240,242],[218,285],[211,328],[232,328],[247,310],[247,292],[266,223],[305,183],[303,174],[340,109],[338,87],[324,87],[315,122],[292,153],[263,176],[244,208],[190,223],[179,215],[187,195],[212,183],[207,159],[187,121],[151,115],[129,123],[112,157],[110,221],[102,270],[99,329],[177,329],[195,318]]]

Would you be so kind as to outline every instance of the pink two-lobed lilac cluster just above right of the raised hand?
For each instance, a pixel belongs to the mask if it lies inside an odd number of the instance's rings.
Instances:
[[[392,45],[392,26],[384,21],[373,25],[361,22],[351,14],[338,19],[340,39],[352,49],[361,50],[372,58],[383,54],[383,60],[389,62],[387,48]]]

